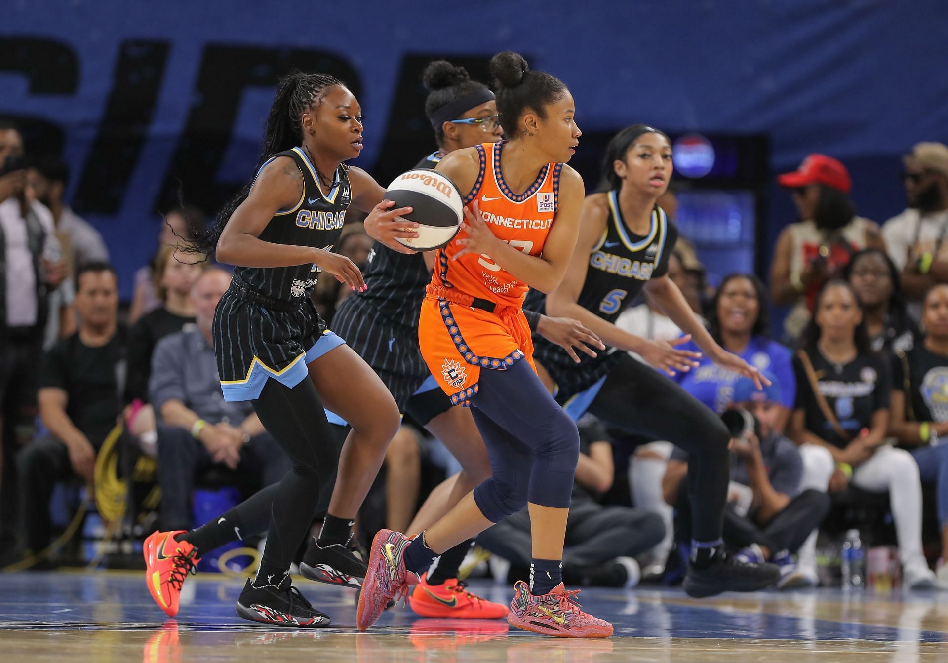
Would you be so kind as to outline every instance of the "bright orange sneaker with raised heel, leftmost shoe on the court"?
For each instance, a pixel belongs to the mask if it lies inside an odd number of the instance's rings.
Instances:
[[[173,532],[158,532],[145,539],[142,553],[145,556],[145,583],[148,591],[168,617],[177,615],[178,597],[181,594],[181,585],[188,574],[197,573],[195,557],[197,550],[186,541],[174,541],[178,534],[185,530]]]

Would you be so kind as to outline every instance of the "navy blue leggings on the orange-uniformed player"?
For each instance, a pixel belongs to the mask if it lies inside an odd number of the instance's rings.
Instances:
[[[579,433],[530,364],[482,369],[471,405],[490,456],[491,476],[474,488],[483,516],[499,523],[527,502],[569,508]]]

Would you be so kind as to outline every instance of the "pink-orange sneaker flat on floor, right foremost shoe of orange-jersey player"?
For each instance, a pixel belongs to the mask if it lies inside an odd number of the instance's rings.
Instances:
[[[507,622],[524,631],[554,637],[609,637],[612,625],[584,613],[574,598],[578,589],[567,591],[560,582],[549,594],[535,597],[523,580],[514,585]]]

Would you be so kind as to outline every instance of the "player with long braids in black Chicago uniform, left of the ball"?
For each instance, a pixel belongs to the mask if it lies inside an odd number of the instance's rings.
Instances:
[[[344,163],[361,149],[362,115],[352,92],[331,76],[290,74],[270,108],[256,177],[191,246],[216,250],[218,261],[237,266],[214,316],[221,386],[225,399],[253,402],[292,467],[282,481],[222,517],[190,532],[155,532],[145,541],[146,581],[170,616],[202,552],[265,530],[263,558],[237,601],[237,614],[279,626],[329,624],[291,586],[288,571],[315,516],[320,487],[337,469],[323,407],[352,423],[327,516],[337,524],[355,517],[399,417],[374,371],[325,328],[309,293],[319,272],[353,290],[366,287],[359,269],[333,252],[350,203],[369,212],[366,230],[392,249],[410,252],[395,237],[417,236],[411,230],[417,224],[398,219],[410,208],[390,209],[374,179]],[[198,419],[191,433],[200,439],[206,427]]]

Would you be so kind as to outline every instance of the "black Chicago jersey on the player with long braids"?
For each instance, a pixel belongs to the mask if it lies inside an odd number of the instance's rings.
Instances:
[[[314,247],[331,251],[336,246],[342,225],[346,220],[346,208],[352,199],[347,167],[340,165],[333,179],[333,188],[327,194],[319,187],[316,168],[299,147],[270,157],[263,166],[277,157],[290,157],[302,173],[300,202],[290,210],[277,212],[260,239],[274,244]],[[258,171],[257,175],[260,175]],[[267,297],[290,302],[308,298],[316,285],[321,267],[315,264],[295,267],[237,267],[234,274],[251,288]]]

